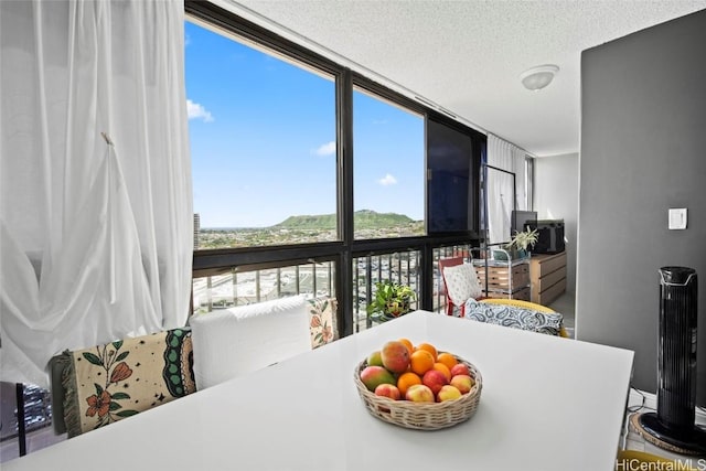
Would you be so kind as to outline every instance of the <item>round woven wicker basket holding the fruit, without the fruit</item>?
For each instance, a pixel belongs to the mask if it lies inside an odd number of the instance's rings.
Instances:
[[[439,430],[451,427],[470,419],[475,414],[483,388],[483,378],[478,368],[459,356],[456,358],[468,366],[471,377],[475,381],[471,390],[456,400],[413,403],[376,396],[361,381],[361,372],[367,366],[367,361],[361,362],[355,367],[353,375],[355,386],[367,411],[381,420],[418,430]]]

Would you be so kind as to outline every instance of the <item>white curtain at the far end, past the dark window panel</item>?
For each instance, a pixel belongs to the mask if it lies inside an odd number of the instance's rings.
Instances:
[[[512,173],[488,169],[488,233],[489,244],[509,242],[512,234],[512,210],[527,210],[525,194],[526,152],[503,139],[488,135],[488,164]],[[515,204],[513,205],[513,194]]]

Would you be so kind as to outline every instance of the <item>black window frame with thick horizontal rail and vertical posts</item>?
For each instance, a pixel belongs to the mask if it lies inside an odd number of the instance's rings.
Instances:
[[[330,74],[335,79],[335,117],[336,117],[336,214],[338,233],[340,240],[307,243],[296,245],[280,245],[267,247],[234,247],[222,249],[200,249],[193,255],[193,277],[223,275],[237,267],[238,270],[276,268],[295,265],[298,263],[334,261],[335,264],[335,292],[339,300],[336,323],[340,336],[354,333],[353,325],[353,274],[352,263],[354,258],[367,255],[391,254],[406,250],[418,250],[420,255],[420,285],[419,309],[432,310],[434,302],[434,251],[440,247],[453,245],[479,246],[481,238],[478,233],[468,231],[457,234],[425,235],[416,237],[355,239],[353,227],[353,87],[363,88],[385,100],[421,115],[425,119],[425,148],[427,119],[432,117],[438,122],[443,122],[469,133],[475,138],[485,140],[481,132],[468,128],[442,114],[400,95],[347,67],[296,44],[280,35],[247,21],[235,13],[226,11],[211,2],[185,0],[185,13],[189,20],[207,28],[221,29],[227,34],[242,36],[244,40],[263,44],[266,49],[282,56],[291,56],[297,62],[307,64],[312,68],[319,68]],[[474,146],[474,149],[477,147]],[[480,214],[480,151],[478,156],[473,151],[473,165],[475,169],[474,188],[475,222],[479,227]],[[425,149],[425,169],[427,157]],[[425,206],[428,205],[427,189],[425,183]],[[427,215],[425,207],[425,217]]]

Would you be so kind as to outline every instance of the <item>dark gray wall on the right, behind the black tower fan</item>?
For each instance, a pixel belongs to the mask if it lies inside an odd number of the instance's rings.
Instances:
[[[634,350],[656,390],[660,267],[698,274],[697,403],[706,404],[706,10],[585,51],[577,338]],[[686,231],[667,210],[688,208]],[[600,381],[600,378],[597,378]]]

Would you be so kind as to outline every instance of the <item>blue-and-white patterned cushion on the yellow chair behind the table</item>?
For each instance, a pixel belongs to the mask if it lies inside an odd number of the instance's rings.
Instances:
[[[559,313],[539,312],[515,306],[478,302],[474,299],[469,299],[466,302],[466,318],[549,335],[559,335],[561,322],[564,321],[564,315]]]

